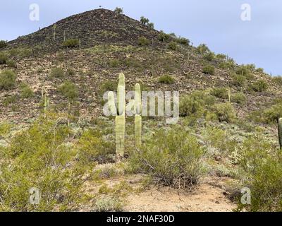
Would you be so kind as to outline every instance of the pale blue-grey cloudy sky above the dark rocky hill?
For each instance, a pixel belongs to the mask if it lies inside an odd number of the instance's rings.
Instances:
[[[30,20],[30,4],[39,5],[39,21]],[[250,20],[241,19],[242,4],[251,6]],[[122,7],[127,16],[149,18],[157,30],[188,37],[195,46],[206,43],[238,64],[253,63],[282,75],[281,0],[2,0],[0,40],[13,40],[99,6]]]

